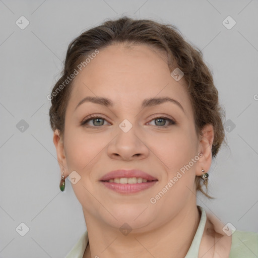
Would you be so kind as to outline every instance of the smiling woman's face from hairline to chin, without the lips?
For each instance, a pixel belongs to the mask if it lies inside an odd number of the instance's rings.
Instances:
[[[66,176],[76,171],[80,176],[74,174],[74,180],[81,177],[72,186],[86,218],[112,227],[127,223],[140,232],[195,204],[195,176],[210,166],[211,155],[198,156],[204,149],[183,78],[170,75],[166,58],[147,45],[111,45],[74,79],[57,154]],[[78,105],[88,96],[112,105]],[[148,101],[152,98],[176,102]],[[82,125],[88,118],[93,120]],[[117,169],[140,169],[157,180],[144,190],[117,192],[100,181]]]

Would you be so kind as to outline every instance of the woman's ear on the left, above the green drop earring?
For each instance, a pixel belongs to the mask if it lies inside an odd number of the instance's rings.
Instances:
[[[57,161],[58,161],[59,167],[61,169],[61,174],[62,174],[62,171],[64,170],[63,176],[64,176],[64,178],[66,178],[68,175],[67,159],[66,159],[66,155],[64,153],[63,138],[60,137],[59,131],[57,129],[54,131],[53,143],[54,143],[54,146],[56,149]]]

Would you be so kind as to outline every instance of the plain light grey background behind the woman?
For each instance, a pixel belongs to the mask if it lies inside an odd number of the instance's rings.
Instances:
[[[230,149],[222,148],[209,171],[217,200],[198,195],[198,204],[225,224],[257,232],[257,11],[257,0],[0,0],[0,257],[64,257],[86,230],[71,182],[59,190],[47,95],[68,44],[122,14],[171,23],[202,49],[231,127]],[[21,16],[30,23],[24,30],[16,25]],[[236,21],[230,30],[222,24],[228,16]],[[23,132],[22,119],[29,125]],[[22,222],[25,236],[16,231]]]

